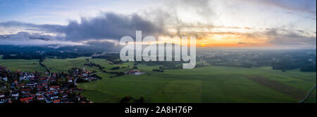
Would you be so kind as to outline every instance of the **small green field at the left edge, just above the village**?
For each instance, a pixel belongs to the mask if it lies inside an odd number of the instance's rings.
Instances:
[[[39,65],[39,60],[2,60],[2,55],[0,55],[0,65],[11,71],[46,71],[44,67]]]

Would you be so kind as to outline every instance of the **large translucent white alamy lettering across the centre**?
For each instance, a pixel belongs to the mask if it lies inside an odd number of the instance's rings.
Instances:
[[[157,41],[154,36],[146,36],[142,40],[142,31],[137,31],[135,37],[136,41],[131,36],[123,36],[120,40],[120,45],[125,46],[120,50],[120,59],[124,62],[173,61],[174,58],[174,61],[182,59],[188,62],[182,64],[183,69],[192,69],[196,65],[196,36],[190,36],[189,42],[187,36],[182,36],[182,39],[179,36],[159,36]],[[142,46],[146,47],[143,49]]]

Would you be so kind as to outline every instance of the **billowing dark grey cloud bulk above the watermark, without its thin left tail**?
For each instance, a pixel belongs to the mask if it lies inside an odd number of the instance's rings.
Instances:
[[[156,36],[163,32],[162,26],[146,20],[137,14],[118,15],[105,13],[92,19],[82,18],[81,22],[70,22],[62,32],[71,41],[85,41],[87,39],[116,39],[123,36],[135,36],[136,31],[142,35]]]

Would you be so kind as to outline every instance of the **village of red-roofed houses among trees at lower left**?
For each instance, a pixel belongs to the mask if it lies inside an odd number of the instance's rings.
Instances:
[[[74,85],[73,78],[63,76],[67,83],[58,84],[57,75],[48,74],[49,76],[43,77],[40,73],[15,71],[13,75],[6,67],[0,66],[0,103],[89,102],[89,99],[77,93],[82,89]],[[89,75],[88,72],[87,74]]]

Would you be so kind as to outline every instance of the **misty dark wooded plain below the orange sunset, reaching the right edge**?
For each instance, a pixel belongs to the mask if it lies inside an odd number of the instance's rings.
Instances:
[[[316,71],[316,50],[254,50],[254,51],[221,51],[197,57],[211,66],[227,67],[267,67],[278,70],[301,69]],[[199,64],[197,64],[199,65]]]

